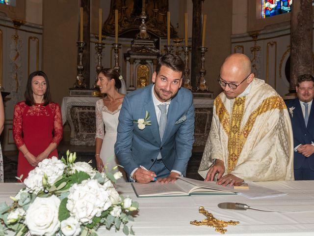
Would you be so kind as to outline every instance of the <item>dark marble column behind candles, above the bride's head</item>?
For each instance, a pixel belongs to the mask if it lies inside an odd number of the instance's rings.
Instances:
[[[84,70],[82,71],[83,77],[85,79],[86,87],[89,89],[90,81],[90,0],[80,0],[80,7],[83,7],[83,40],[86,45],[83,51],[82,64]],[[78,26],[79,35],[79,26]],[[79,38],[79,36],[78,36]],[[79,61],[79,58],[78,58]]]

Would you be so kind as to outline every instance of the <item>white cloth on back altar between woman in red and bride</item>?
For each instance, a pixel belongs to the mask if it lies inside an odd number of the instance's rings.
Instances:
[[[63,124],[67,121],[68,107],[70,106],[95,106],[101,97],[63,97],[61,103],[61,114]]]

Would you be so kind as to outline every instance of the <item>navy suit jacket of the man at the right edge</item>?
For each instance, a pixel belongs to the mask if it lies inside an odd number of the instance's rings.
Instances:
[[[288,111],[289,108],[294,107],[293,114],[289,112],[293,130],[293,147],[295,148],[300,144],[312,144],[312,142],[314,142],[314,103],[312,103],[308,126],[306,127],[299,98],[286,100],[285,102]],[[305,158],[307,157],[305,157],[301,153],[294,152],[293,168],[299,169]],[[310,168],[314,170],[314,154],[312,154],[308,158]]]

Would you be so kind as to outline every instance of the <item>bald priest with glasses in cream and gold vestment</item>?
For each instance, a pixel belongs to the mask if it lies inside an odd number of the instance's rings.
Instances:
[[[244,180],[293,180],[293,135],[282,97],[251,72],[251,60],[232,54],[221,66],[223,92],[213,117],[199,174],[235,185]]]

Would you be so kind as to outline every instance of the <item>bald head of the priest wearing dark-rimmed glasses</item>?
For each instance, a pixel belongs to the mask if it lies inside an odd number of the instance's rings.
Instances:
[[[253,81],[251,67],[251,60],[244,54],[231,54],[225,59],[218,82],[228,98],[240,95]]]

